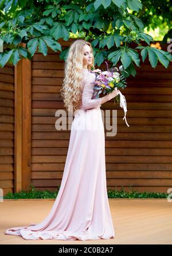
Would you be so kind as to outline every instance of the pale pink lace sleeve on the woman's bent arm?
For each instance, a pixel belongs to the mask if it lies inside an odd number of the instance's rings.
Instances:
[[[89,73],[85,79],[82,96],[83,109],[97,108],[98,106],[101,106],[101,98],[92,99],[95,79],[96,75],[93,73]]]

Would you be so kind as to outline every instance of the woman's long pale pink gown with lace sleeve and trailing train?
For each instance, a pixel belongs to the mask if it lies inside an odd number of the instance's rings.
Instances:
[[[24,239],[97,240],[115,237],[105,174],[101,99],[92,99],[95,74],[82,68],[81,108],[74,112],[60,190],[41,223],[9,228]]]

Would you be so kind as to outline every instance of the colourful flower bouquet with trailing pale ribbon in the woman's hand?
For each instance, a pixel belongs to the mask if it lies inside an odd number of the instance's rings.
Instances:
[[[125,71],[123,70],[123,66],[120,66],[119,68],[112,67],[109,69],[107,62],[105,62],[105,64],[107,66],[106,71],[101,71],[99,69],[93,70],[93,67],[91,68],[92,72],[94,72],[96,75],[96,79],[93,87],[93,98],[99,98],[100,93],[109,94],[113,90],[115,90],[115,88],[124,89],[125,87],[127,87],[126,78],[124,77],[124,75],[121,74],[121,71]],[[116,95],[116,97],[114,97],[114,104],[118,103],[120,107],[124,109],[123,120],[125,119],[126,124],[129,127],[130,125],[128,125],[126,120],[126,113],[127,113],[126,98],[119,90],[118,92],[119,94]]]

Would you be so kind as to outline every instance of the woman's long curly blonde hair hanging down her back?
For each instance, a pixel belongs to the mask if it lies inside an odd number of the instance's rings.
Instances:
[[[75,40],[69,47],[68,56],[65,60],[64,81],[62,83],[61,96],[64,97],[65,108],[71,112],[79,109],[81,102],[81,79],[83,68],[83,47],[87,44],[92,51],[92,63],[88,69],[94,67],[93,49],[91,43],[83,39]]]

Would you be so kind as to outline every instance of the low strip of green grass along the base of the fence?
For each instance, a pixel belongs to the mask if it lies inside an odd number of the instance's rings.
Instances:
[[[22,190],[18,193],[7,193],[4,199],[20,199],[20,198],[56,198],[60,186],[55,192],[49,190],[36,190],[34,186],[30,186],[27,191]],[[123,187],[120,190],[107,189],[108,198],[167,198],[169,194],[161,192],[139,192],[138,190],[126,191]]]

